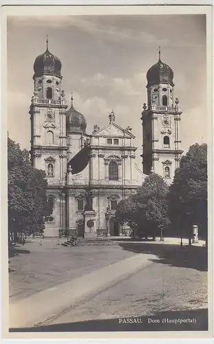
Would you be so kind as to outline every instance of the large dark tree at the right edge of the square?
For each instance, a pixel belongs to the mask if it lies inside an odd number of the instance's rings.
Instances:
[[[207,233],[207,145],[193,144],[180,160],[167,197],[175,233],[187,235],[191,244],[193,224]]]

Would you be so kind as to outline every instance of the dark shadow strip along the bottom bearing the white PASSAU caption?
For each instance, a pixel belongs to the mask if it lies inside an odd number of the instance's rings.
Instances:
[[[136,319],[131,323],[130,319]],[[149,321],[152,319],[152,321]],[[163,319],[168,322],[163,323]],[[181,319],[185,323],[170,323]],[[195,319],[195,323],[189,322]],[[139,322],[140,321],[140,322]],[[156,321],[156,322],[154,322]],[[38,327],[11,328],[9,332],[114,332],[114,331],[208,331],[208,310],[185,310],[159,312],[138,318],[107,319],[61,323]]]

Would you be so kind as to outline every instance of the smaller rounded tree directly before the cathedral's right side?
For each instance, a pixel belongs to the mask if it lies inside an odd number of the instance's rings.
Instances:
[[[118,221],[134,224],[138,235],[154,238],[160,233],[162,237],[162,231],[169,225],[167,193],[168,186],[163,178],[151,173],[135,195],[119,202],[116,211]]]

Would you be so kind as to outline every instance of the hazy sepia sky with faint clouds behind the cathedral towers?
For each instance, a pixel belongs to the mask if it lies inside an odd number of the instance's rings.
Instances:
[[[30,149],[30,100],[36,56],[49,50],[62,63],[62,88],[68,108],[104,127],[109,111],[116,123],[129,125],[140,162],[142,104],[147,103],[147,70],[162,62],[174,72],[180,100],[181,147],[206,142],[206,18],[204,15],[115,15],[8,17],[8,131],[12,140]]]

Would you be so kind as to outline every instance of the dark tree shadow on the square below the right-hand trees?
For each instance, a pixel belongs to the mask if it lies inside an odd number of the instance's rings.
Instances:
[[[191,268],[207,271],[207,248],[202,246],[183,246],[170,244],[129,244],[121,243],[123,250],[135,253],[147,253],[156,255],[158,259],[151,259],[159,264]]]

